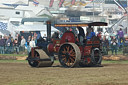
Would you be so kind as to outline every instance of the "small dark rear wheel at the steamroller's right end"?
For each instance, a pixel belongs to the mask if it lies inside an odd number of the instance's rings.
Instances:
[[[102,61],[101,51],[99,48],[94,48],[91,53],[92,63],[93,64],[100,64]]]

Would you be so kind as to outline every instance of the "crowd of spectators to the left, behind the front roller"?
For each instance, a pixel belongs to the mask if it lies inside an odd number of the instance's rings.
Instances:
[[[16,34],[15,38],[11,34],[8,36],[0,35],[0,54],[19,54],[20,51],[25,51],[25,48],[30,52],[31,47],[36,46],[37,38],[39,38],[39,35],[36,33],[31,33],[27,39],[20,34]]]

